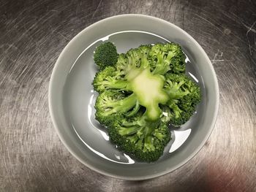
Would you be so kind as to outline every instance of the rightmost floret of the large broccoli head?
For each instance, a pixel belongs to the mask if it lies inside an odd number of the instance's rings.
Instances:
[[[170,100],[166,104],[169,109],[162,108],[163,119],[173,126],[181,126],[194,114],[200,102],[200,88],[185,74],[167,74],[166,79],[165,91]]]

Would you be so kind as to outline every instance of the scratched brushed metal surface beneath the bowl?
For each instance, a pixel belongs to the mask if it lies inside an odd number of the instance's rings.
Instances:
[[[142,13],[180,26],[217,72],[219,117],[188,164],[153,180],[105,177],[53,129],[48,84],[61,50],[102,18]],[[256,1],[0,0],[0,191],[256,191]]]

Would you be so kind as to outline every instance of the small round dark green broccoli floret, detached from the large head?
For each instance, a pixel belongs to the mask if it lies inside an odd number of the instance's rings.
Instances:
[[[117,58],[116,46],[112,42],[102,43],[94,52],[94,62],[100,70],[105,69],[106,66],[114,66]]]

